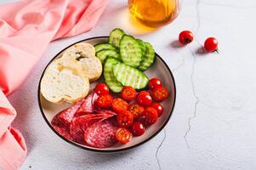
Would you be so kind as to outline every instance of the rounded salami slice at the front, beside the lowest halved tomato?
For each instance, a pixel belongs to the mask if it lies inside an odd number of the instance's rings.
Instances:
[[[95,122],[84,133],[86,144],[95,148],[106,148],[117,143],[115,133],[117,122],[114,119],[104,119]]]

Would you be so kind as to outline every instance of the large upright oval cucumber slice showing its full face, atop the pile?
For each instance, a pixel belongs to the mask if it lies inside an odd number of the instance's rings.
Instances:
[[[123,36],[120,42],[120,55],[122,62],[132,67],[138,67],[142,59],[142,51],[134,37]]]

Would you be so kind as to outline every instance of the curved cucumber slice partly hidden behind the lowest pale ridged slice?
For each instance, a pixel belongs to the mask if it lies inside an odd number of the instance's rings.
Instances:
[[[113,65],[116,65],[118,63],[119,61],[117,59],[108,57],[107,59],[105,59],[103,72],[105,83],[114,93],[120,93],[122,90],[122,84],[120,82],[117,82],[112,69]]]

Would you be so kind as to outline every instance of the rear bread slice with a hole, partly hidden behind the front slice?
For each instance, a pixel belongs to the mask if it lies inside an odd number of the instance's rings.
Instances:
[[[76,59],[82,65],[82,73],[88,77],[90,82],[96,81],[102,73],[100,59],[95,57],[95,48],[89,43],[76,43],[65,50],[62,58]]]

